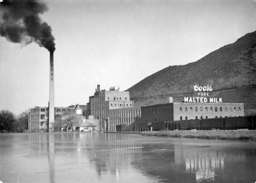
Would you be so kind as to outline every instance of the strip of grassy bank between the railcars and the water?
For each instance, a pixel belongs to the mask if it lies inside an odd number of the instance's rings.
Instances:
[[[246,140],[256,141],[256,131],[239,130],[211,130],[211,131],[147,131],[142,132],[145,136],[158,137],[185,137],[212,140]]]

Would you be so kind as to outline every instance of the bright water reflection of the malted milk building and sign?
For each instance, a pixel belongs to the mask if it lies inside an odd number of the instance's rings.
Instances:
[[[224,155],[216,151],[201,151],[198,148],[181,149],[175,147],[175,161],[183,163],[187,173],[196,175],[196,180],[214,180],[215,171],[224,169]]]

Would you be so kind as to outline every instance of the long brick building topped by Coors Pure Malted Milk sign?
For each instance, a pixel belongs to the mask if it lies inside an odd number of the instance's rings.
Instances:
[[[169,102],[141,107],[142,122],[164,122],[191,119],[244,116],[244,103],[223,103],[222,98],[208,97],[211,86],[193,86],[195,97],[184,97],[183,102]],[[200,90],[199,90],[200,89]],[[208,89],[208,90],[207,90]]]

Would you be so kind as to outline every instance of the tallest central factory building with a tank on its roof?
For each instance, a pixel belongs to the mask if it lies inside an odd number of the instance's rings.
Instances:
[[[140,108],[134,107],[129,92],[118,90],[118,86],[111,87],[109,91],[100,90],[100,85],[97,85],[94,96],[89,97],[87,110],[99,120],[99,131],[114,132],[116,125],[128,125],[140,117]]]

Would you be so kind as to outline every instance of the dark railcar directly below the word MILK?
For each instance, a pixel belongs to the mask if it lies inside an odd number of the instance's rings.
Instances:
[[[200,120],[201,130],[219,129],[223,130],[225,126],[224,118],[210,118]]]

